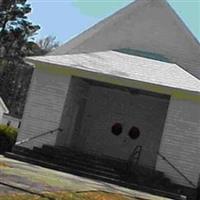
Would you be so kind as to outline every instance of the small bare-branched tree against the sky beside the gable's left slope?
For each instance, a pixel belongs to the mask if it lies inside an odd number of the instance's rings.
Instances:
[[[59,46],[59,42],[56,41],[56,37],[54,36],[47,36],[43,39],[40,39],[37,42],[37,44],[41,49],[42,55],[49,53],[50,51]]]

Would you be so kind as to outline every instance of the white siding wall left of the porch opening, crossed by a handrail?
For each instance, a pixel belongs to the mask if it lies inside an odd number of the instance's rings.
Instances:
[[[35,69],[17,141],[59,127],[70,77]],[[55,144],[57,135],[47,135],[24,144],[26,147]]]

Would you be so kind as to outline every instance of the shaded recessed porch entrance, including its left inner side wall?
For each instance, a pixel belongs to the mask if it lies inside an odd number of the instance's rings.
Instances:
[[[139,164],[155,167],[169,96],[75,77],[70,92],[59,144],[122,160],[141,146]]]

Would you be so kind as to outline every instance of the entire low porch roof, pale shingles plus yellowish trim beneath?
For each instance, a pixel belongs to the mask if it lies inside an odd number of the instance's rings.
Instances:
[[[200,96],[200,80],[176,64],[114,51],[29,57],[41,69],[163,94]]]

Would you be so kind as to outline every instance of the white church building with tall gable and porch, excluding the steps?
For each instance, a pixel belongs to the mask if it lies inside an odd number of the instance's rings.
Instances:
[[[165,0],[136,0],[35,65],[17,141],[129,160],[197,187],[200,45]],[[191,185],[175,170],[192,182]]]

